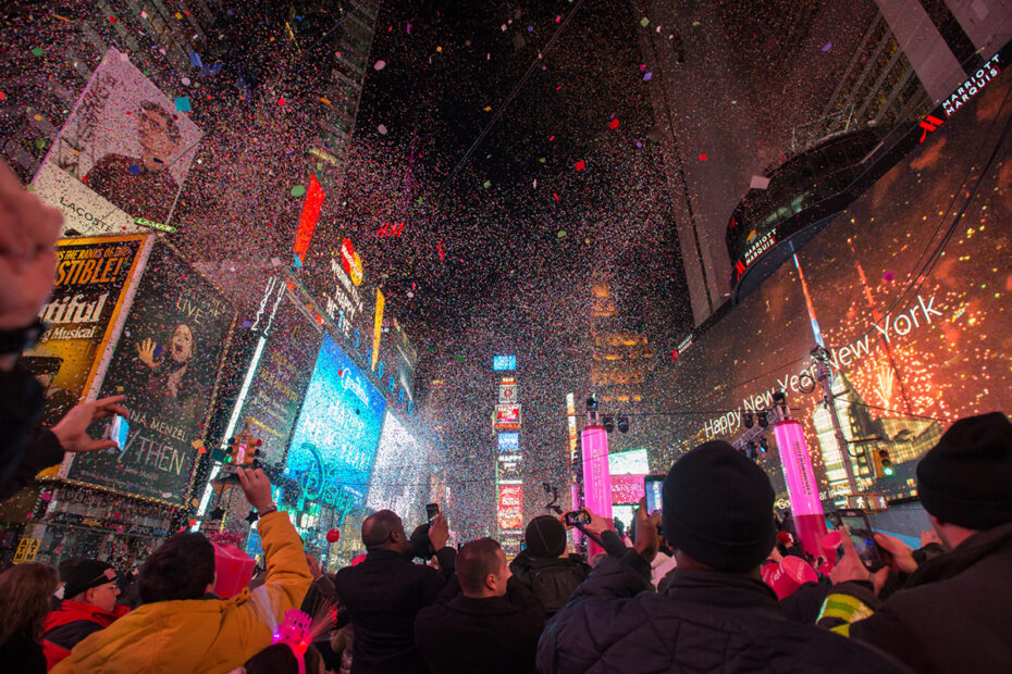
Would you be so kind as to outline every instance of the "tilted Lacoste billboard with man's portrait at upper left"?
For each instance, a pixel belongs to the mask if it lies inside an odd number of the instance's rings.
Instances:
[[[124,213],[166,221],[203,135],[178,108],[127,54],[106,52],[35,180],[67,235],[133,228]]]

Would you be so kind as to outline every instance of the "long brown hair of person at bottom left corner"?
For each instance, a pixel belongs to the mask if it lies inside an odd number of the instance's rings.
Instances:
[[[0,574],[0,645],[18,634],[41,638],[57,585],[57,570],[38,562],[15,564]]]

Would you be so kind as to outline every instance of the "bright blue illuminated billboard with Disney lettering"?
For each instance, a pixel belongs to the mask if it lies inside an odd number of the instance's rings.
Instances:
[[[329,336],[285,463],[301,497],[346,513],[366,501],[386,401]]]

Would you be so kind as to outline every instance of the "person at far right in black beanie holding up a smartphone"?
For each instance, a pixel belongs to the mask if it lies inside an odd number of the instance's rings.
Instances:
[[[961,419],[917,464],[917,491],[948,552],[918,559],[874,534],[903,588],[879,602],[850,536],[818,624],[892,653],[917,672],[1012,672],[1012,423],[1001,412]]]

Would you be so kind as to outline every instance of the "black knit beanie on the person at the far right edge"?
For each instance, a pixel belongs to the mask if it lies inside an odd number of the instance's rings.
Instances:
[[[1001,412],[952,424],[917,464],[924,509],[986,531],[1012,522],[1012,423]]]

